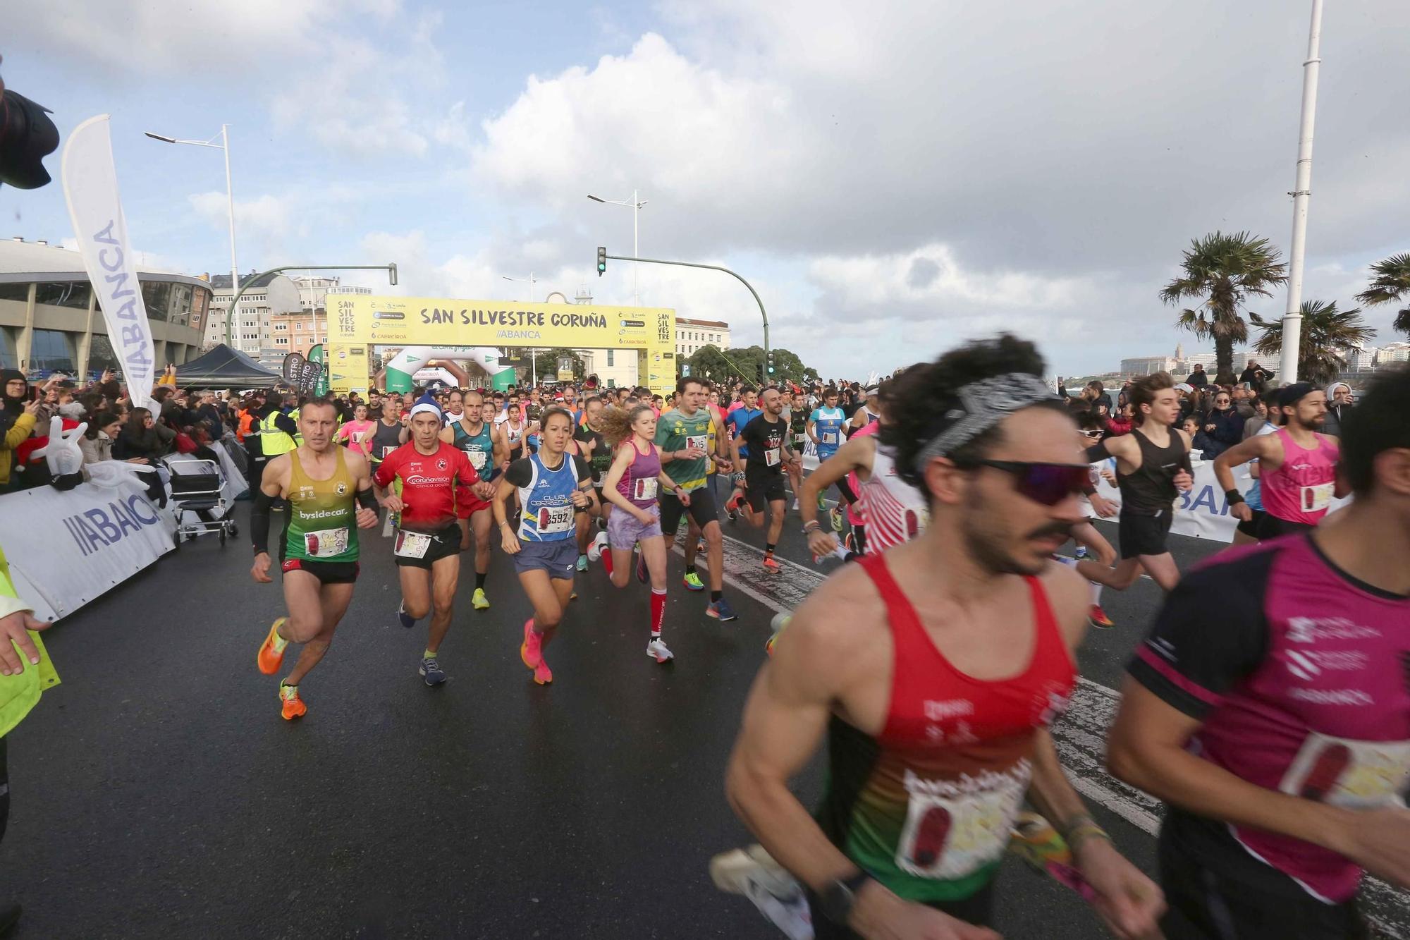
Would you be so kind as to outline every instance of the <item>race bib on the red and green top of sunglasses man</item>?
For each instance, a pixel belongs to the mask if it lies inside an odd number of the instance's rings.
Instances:
[[[984,786],[976,782],[962,788],[949,781],[918,781],[907,771],[911,799],[895,864],[912,875],[952,881],[1003,857],[1022,807],[1026,778],[1015,768],[990,775]]]

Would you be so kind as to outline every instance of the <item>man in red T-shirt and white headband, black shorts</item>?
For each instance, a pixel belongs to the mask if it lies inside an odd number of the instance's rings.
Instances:
[[[465,452],[440,439],[441,421],[436,405],[413,405],[412,440],[386,454],[372,477],[378,502],[400,514],[392,549],[402,573],[402,605],[396,615],[402,627],[410,628],[431,614],[420,666],[429,686],[446,682],[436,653],[450,629],[460,583],[457,487],[461,487],[461,498],[474,500],[479,498],[475,491],[484,490]],[[396,493],[389,490],[393,480],[400,483]]]

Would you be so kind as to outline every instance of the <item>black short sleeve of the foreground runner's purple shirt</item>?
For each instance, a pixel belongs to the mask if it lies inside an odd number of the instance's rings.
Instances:
[[[1131,677],[1193,718],[1217,709],[1268,655],[1263,598],[1276,555],[1255,552],[1180,579],[1127,665]]]

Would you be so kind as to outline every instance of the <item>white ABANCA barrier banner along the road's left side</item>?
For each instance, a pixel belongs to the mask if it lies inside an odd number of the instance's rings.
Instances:
[[[0,497],[0,548],[41,620],[72,614],[142,570],[172,550],[175,531],[141,476],[116,488],[80,483]]]

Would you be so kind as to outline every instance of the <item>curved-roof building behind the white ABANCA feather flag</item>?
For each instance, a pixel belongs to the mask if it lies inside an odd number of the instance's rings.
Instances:
[[[176,271],[137,265],[157,371],[200,353],[210,285]],[[80,378],[121,373],[83,255],[45,241],[0,241],[0,366],[30,375]]]

